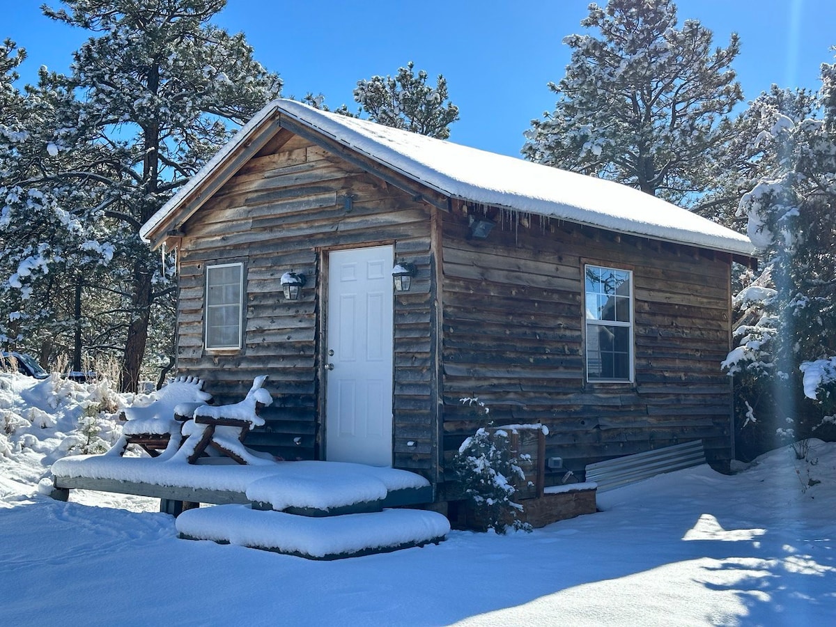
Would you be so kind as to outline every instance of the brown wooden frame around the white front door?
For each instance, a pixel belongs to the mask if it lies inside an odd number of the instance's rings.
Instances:
[[[393,257],[397,257],[395,250],[395,240],[386,239],[378,240],[376,242],[359,242],[354,244],[335,244],[334,246],[319,247],[319,299],[317,306],[319,308],[319,321],[317,324],[317,343],[319,344],[316,355],[319,361],[316,364],[317,380],[316,389],[316,438],[314,447],[314,458],[318,460],[326,460],[328,451],[328,402],[327,402],[327,387],[328,387],[328,371],[325,369],[328,364],[328,316],[329,316],[329,279],[331,276],[331,267],[329,257],[331,252],[354,250],[359,248],[374,248],[391,246]],[[392,461],[391,466],[395,467],[395,295],[392,295]]]

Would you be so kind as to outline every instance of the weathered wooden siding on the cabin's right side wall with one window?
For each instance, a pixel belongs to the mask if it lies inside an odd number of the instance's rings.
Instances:
[[[552,221],[466,239],[446,217],[443,247],[444,467],[482,422],[542,421],[546,456],[582,472],[609,457],[702,438],[728,461],[729,263],[696,249],[609,237]],[[634,272],[635,384],[584,382],[584,260]]]

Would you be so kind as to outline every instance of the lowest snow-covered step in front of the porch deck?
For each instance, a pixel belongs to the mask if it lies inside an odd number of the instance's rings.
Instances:
[[[181,538],[261,548],[309,559],[388,553],[439,543],[450,532],[446,517],[416,509],[306,517],[246,505],[191,509],[177,517],[176,526]]]

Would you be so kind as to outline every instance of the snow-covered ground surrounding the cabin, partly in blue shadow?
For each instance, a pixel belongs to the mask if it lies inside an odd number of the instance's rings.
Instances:
[[[452,532],[438,546],[314,562],[179,540],[151,499],[45,496],[49,464],[89,443],[77,424],[91,404],[124,402],[72,386],[0,374],[0,624],[807,625],[836,615],[834,444],[813,441],[809,461],[772,451],[732,477],[707,466],[656,477],[599,495],[603,512],[533,533]],[[115,441],[114,421],[94,420]]]

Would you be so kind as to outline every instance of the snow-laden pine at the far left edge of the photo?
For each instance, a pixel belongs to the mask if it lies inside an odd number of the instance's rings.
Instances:
[[[46,363],[56,349],[69,352],[65,336],[77,328],[74,303],[67,295],[74,293],[79,277],[101,279],[103,251],[94,240],[102,225],[79,222],[75,212],[83,195],[56,176],[72,169],[73,150],[64,150],[54,131],[60,126],[57,112],[74,109],[73,94],[45,69],[39,84],[21,94],[10,82],[16,74],[8,52],[15,46],[7,42],[3,48],[0,340],[9,347],[23,344]],[[19,53],[15,64],[24,58]],[[109,254],[104,251],[104,257]]]

